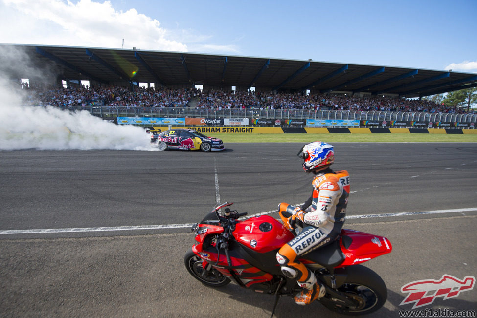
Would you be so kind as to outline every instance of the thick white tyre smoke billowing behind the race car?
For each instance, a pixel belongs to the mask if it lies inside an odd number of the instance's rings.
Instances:
[[[38,79],[53,72],[33,68],[22,51],[0,48],[0,150],[157,150],[140,127],[115,125],[85,110],[22,106],[16,76]]]

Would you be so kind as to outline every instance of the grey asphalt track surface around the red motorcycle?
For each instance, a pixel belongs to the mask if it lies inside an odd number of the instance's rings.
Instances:
[[[270,317],[273,297],[203,286],[183,255],[190,224],[217,201],[277,217],[311,176],[301,143],[228,144],[217,153],[1,151],[1,317]],[[350,173],[346,228],[386,236],[393,251],[363,263],[386,282],[399,317],[416,280],[477,276],[477,143],[336,143]],[[401,213],[401,214],[400,214]],[[477,310],[477,287],[416,310]],[[474,312],[475,314],[475,312]],[[275,317],[341,317],[282,297]]]

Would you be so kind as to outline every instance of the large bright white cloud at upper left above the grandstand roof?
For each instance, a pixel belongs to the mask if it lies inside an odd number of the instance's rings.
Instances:
[[[0,11],[3,43],[188,51],[156,19],[109,1],[3,0]]]

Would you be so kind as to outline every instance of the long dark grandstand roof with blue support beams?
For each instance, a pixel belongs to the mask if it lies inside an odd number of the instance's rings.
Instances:
[[[161,85],[250,86],[269,90],[313,92],[348,91],[372,94],[398,94],[419,97],[476,87],[477,74],[451,70],[429,70],[383,65],[329,63],[111,49],[92,47],[0,44],[17,52],[19,63],[11,72],[24,69],[25,52],[38,68],[53,65],[56,75],[65,80],[93,80],[101,83],[122,81]],[[21,50],[21,51],[20,51]]]

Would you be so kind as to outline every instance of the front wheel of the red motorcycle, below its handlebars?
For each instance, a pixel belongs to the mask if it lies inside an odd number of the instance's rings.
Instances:
[[[205,272],[202,267],[203,260],[190,249],[184,256],[185,268],[195,279],[211,287],[222,287],[230,283],[230,279],[215,268]]]

